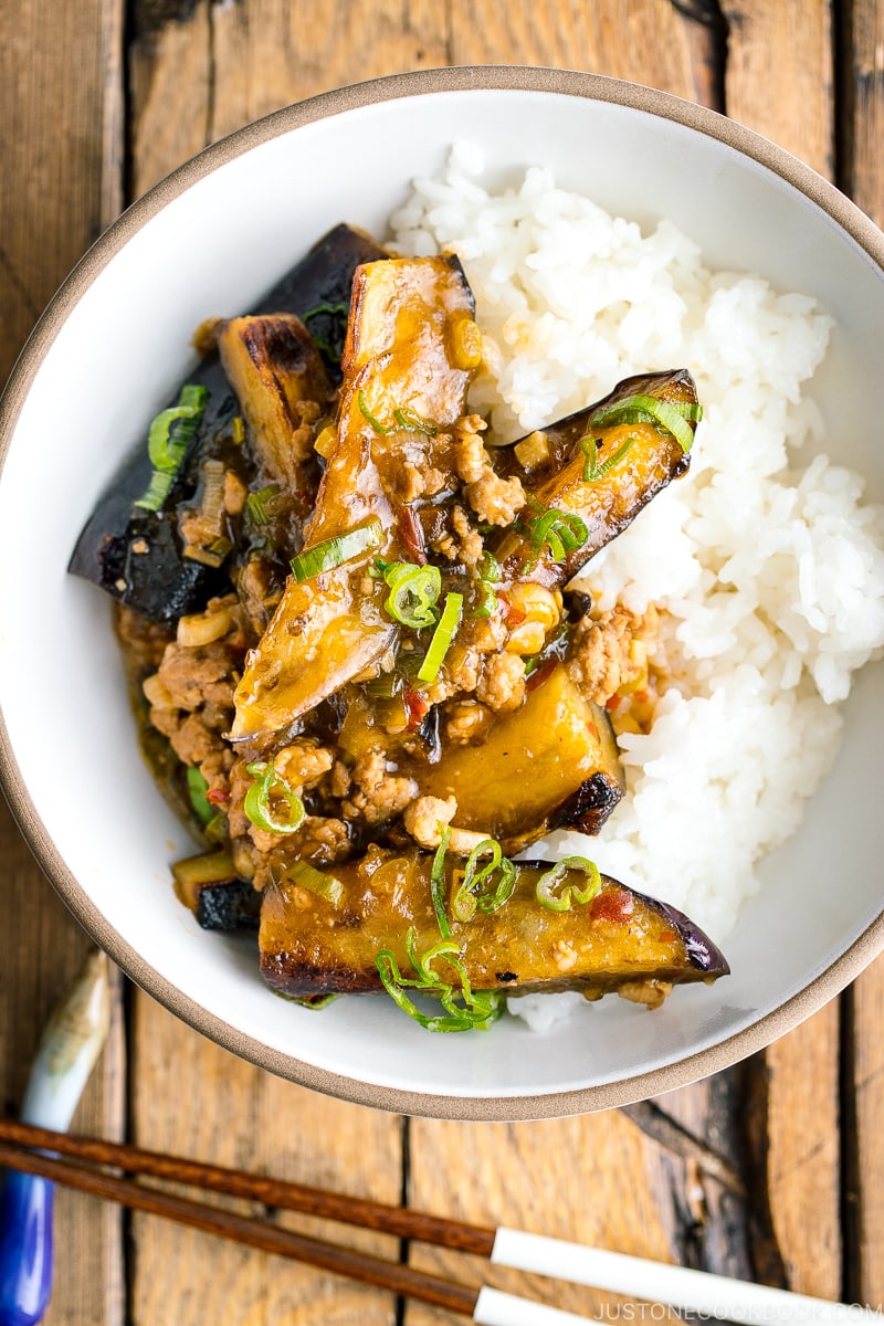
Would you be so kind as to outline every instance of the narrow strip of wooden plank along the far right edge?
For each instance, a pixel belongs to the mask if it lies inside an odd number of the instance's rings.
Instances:
[[[854,0],[840,15],[842,170],[839,183],[873,221],[884,225],[884,0]],[[850,992],[850,1026],[854,1034],[851,1065],[855,1138],[848,1139],[851,1181],[847,1193],[848,1227],[856,1233],[848,1274],[861,1302],[884,1305],[884,964],[860,976]],[[876,1181],[877,1180],[877,1181]]]

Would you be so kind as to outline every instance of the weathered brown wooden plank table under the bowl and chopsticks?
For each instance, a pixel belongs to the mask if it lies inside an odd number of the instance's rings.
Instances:
[[[884,0],[19,0],[0,5],[0,381],[87,244],[184,158],[311,93],[472,62],[588,69],[704,102],[884,221]],[[5,808],[0,854],[9,1113],[86,940]],[[315,1097],[239,1062],[121,977],[77,1126],[880,1306],[883,1014],[879,963],[766,1054],[706,1083],[631,1111],[489,1126]],[[350,1237],[451,1265],[439,1252]],[[69,1193],[57,1238],[53,1326],[453,1321]],[[517,1276],[496,1284],[539,1289]],[[562,1289],[555,1302],[640,1319],[635,1305],[600,1294]]]

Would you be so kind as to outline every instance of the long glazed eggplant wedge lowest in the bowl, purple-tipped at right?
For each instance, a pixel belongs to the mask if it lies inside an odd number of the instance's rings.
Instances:
[[[449,857],[448,892],[456,866]],[[588,903],[553,911],[535,896],[553,863],[514,867],[514,891],[497,911],[478,908],[467,923],[451,920],[473,989],[575,989],[588,998],[623,989],[627,997],[657,1002],[669,984],[713,981],[729,972],[712,940],[675,907],[602,875]],[[368,993],[382,988],[375,960],[384,949],[408,973],[408,930],[416,932],[419,953],[439,943],[432,869],[429,853],[374,847],[362,861],[322,871],[334,873],[342,886],[333,891],[337,906],[285,878],[270,884],[258,932],[265,981],[294,997]],[[562,888],[569,884],[583,888],[586,875],[563,871]]]

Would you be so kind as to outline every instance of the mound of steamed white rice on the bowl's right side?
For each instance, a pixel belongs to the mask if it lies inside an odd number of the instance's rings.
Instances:
[[[884,644],[884,508],[824,456],[801,463],[822,439],[804,390],[831,320],[757,276],[710,272],[667,220],[645,235],[539,168],[492,194],[481,170],[455,149],[415,183],[392,243],[461,259],[486,359],[472,404],[497,435],[652,370],[689,369],[705,407],[687,479],[584,573],[603,609],[665,609],[653,662],[669,686],[649,735],[620,737],[628,796],[602,835],[555,846],[721,940],[832,764],[851,672]]]

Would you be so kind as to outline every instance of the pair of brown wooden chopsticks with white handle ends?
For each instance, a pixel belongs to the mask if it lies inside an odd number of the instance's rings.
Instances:
[[[28,1150],[40,1147],[58,1152],[60,1159]],[[29,1171],[56,1183],[93,1193],[105,1200],[164,1216],[208,1233],[231,1238],[262,1252],[302,1261],[322,1270],[346,1276],[375,1289],[415,1298],[482,1326],[577,1326],[594,1318],[565,1313],[555,1307],[484,1286],[472,1289],[416,1270],[403,1262],[341,1248],[268,1221],[237,1216],[204,1207],[187,1197],[122,1179],[94,1168],[113,1166],[151,1177],[188,1183],[197,1188],[248,1197],[280,1208],[325,1216],[363,1228],[394,1233],[402,1238],[477,1253],[494,1265],[514,1266],[542,1276],[596,1289],[668,1303],[683,1311],[706,1314],[733,1322],[864,1322],[880,1319],[875,1309],[832,1303],[781,1289],[753,1285],[706,1272],[688,1270],[630,1257],[604,1249],[587,1248],[518,1229],[489,1229],[460,1220],[448,1220],[407,1211],[360,1197],[310,1188],[304,1184],[266,1179],[237,1170],[200,1164],[195,1160],[162,1155],[93,1138],[70,1136],[32,1124],[0,1120],[0,1167]],[[598,1318],[595,1318],[598,1319]]]

